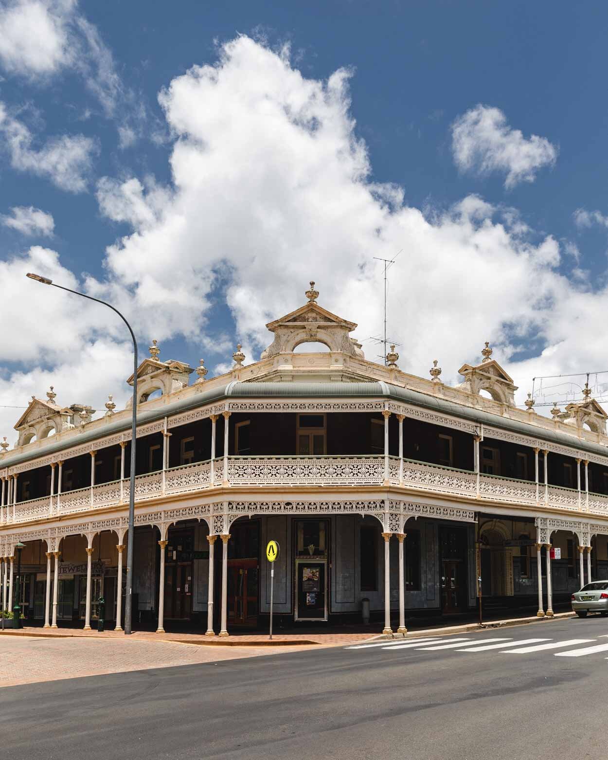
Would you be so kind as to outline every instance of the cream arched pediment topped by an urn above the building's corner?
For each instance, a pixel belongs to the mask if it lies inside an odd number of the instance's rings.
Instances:
[[[266,327],[274,333],[274,341],[262,352],[261,358],[266,359],[276,353],[290,353],[301,343],[323,343],[330,351],[362,356],[360,344],[356,344],[349,335],[356,328],[356,323],[319,306],[314,282],[310,283],[306,296],[309,302],[304,306],[268,322]]]

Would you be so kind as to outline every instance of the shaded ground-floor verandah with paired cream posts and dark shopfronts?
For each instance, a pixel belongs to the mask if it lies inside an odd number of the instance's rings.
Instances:
[[[467,510],[443,519],[393,513],[392,521],[394,530],[385,530],[377,515],[252,511],[234,514],[230,533],[219,535],[195,518],[141,524],[135,531],[134,628],[210,636],[266,629],[270,565],[264,549],[271,539],[280,545],[274,574],[278,630],[353,625],[368,610],[371,626],[385,632],[403,632],[406,617],[409,625],[470,617],[477,610],[479,577],[486,616],[530,610],[535,600],[539,613],[551,615],[554,599],[568,603],[585,579],[608,578],[606,536],[594,538],[592,553],[591,544],[584,546],[588,530],[583,534],[572,521],[556,527],[546,518]],[[65,535],[52,552],[43,540],[27,541],[20,581],[27,620],[87,629],[101,612],[106,628],[120,629],[124,531],[117,535],[112,529]],[[14,560],[5,559],[5,609],[14,605],[11,568],[14,575]]]

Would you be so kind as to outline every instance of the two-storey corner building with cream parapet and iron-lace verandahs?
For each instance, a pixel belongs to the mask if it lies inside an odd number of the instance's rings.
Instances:
[[[359,620],[367,599],[403,632],[406,612],[472,610],[479,575],[485,604],[550,616],[585,576],[608,578],[606,414],[588,391],[551,420],[518,410],[488,344],[458,387],[436,362],[429,379],[408,375],[394,349],[388,366],[366,359],[314,283],[306,296],[267,325],[258,362],[239,347],[230,372],[207,379],[201,363],[189,384],[192,368],[154,342],[139,366],[136,622],[261,624],[271,539],[274,610],[296,625]],[[296,352],[306,342],[328,352]],[[120,629],[131,409],[110,397],[92,420],[46,396],[2,445],[2,605],[21,541],[29,619],[87,627],[103,595]]]

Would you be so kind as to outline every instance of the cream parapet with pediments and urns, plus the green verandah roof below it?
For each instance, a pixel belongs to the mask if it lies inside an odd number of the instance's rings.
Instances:
[[[350,335],[356,329],[356,324],[319,306],[314,282],[310,283],[306,297],[308,301],[304,306],[266,325],[274,334],[274,340],[261,353],[258,362],[245,366],[245,355],[238,346],[233,353],[233,368],[214,378],[207,379],[207,369],[202,359],[195,370],[176,360],[161,361],[160,348],[154,340],[150,346],[150,358],[144,359],[138,367],[138,423],[147,423],[162,418],[167,413],[176,413],[174,410],[204,406],[210,400],[221,401],[228,395],[229,388],[236,391],[235,382],[239,385],[263,383],[265,387],[261,395],[264,397],[268,397],[271,391],[267,387],[268,383],[279,383],[282,386],[277,385],[277,396],[280,397],[290,395],[290,391],[293,391],[294,396],[302,397],[302,385],[305,384],[311,397],[315,397],[317,391],[327,396],[327,391],[330,391],[328,384],[331,384],[331,394],[336,397],[352,397],[354,385],[365,383],[365,397],[392,396],[390,386],[394,386],[395,391],[404,388],[413,391],[410,403],[435,407],[443,401],[444,404],[440,405],[445,405],[445,410],[449,410],[451,416],[461,414],[471,420],[474,417],[470,412],[479,410],[492,417],[496,416],[496,420],[490,423],[495,426],[504,426],[506,420],[511,420],[524,423],[528,435],[543,438],[544,429],[546,434],[567,434],[575,447],[580,448],[581,441],[599,444],[602,448],[608,447],[606,413],[597,401],[589,397],[588,390],[585,391],[583,404],[569,404],[563,413],[561,410],[557,410],[557,413],[552,410],[553,420],[535,413],[529,402],[526,411],[520,410],[515,407],[514,393],[517,388],[499,363],[491,358],[492,349],[488,343],[482,351],[483,360],[479,364],[465,363],[459,370],[464,376],[461,385],[445,385],[440,378],[442,370],[436,361],[429,370],[431,379],[416,377],[399,369],[399,356],[394,347],[387,354],[385,366],[366,359],[361,344]],[[325,344],[329,350],[325,353],[297,353],[296,347],[306,342]],[[189,385],[192,372],[198,378]],[[127,382],[132,385],[133,375]],[[378,386],[378,383],[386,383],[389,387],[381,390],[382,386]],[[319,384],[324,384],[325,387],[321,390]],[[261,391],[261,385],[258,388]],[[481,395],[483,391],[491,398]],[[158,392],[160,397],[150,398]],[[248,388],[247,396],[255,394],[253,388]],[[45,455],[51,450],[78,445],[85,440],[106,437],[118,429],[126,428],[131,420],[131,401],[125,410],[116,411],[116,404],[110,396],[106,403],[106,413],[99,419],[92,420],[95,410],[91,407],[84,404],[59,407],[55,404],[56,394],[52,388],[50,394],[47,392],[46,395],[46,401],[32,397],[30,405],[17,422],[17,446],[7,451],[6,439],[0,444],[3,450],[0,458],[4,460],[2,467],[11,466],[13,461]],[[566,445],[567,441],[568,439],[562,439]]]

